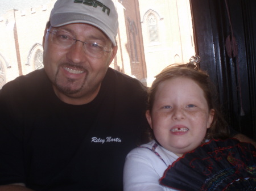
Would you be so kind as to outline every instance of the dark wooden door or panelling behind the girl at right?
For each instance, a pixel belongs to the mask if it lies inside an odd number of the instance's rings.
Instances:
[[[208,71],[217,86],[230,126],[256,140],[256,1],[226,3],[191,0],[196,52],[201,69]],[[225,43],[232,29],[237,54],[230,58]]]

